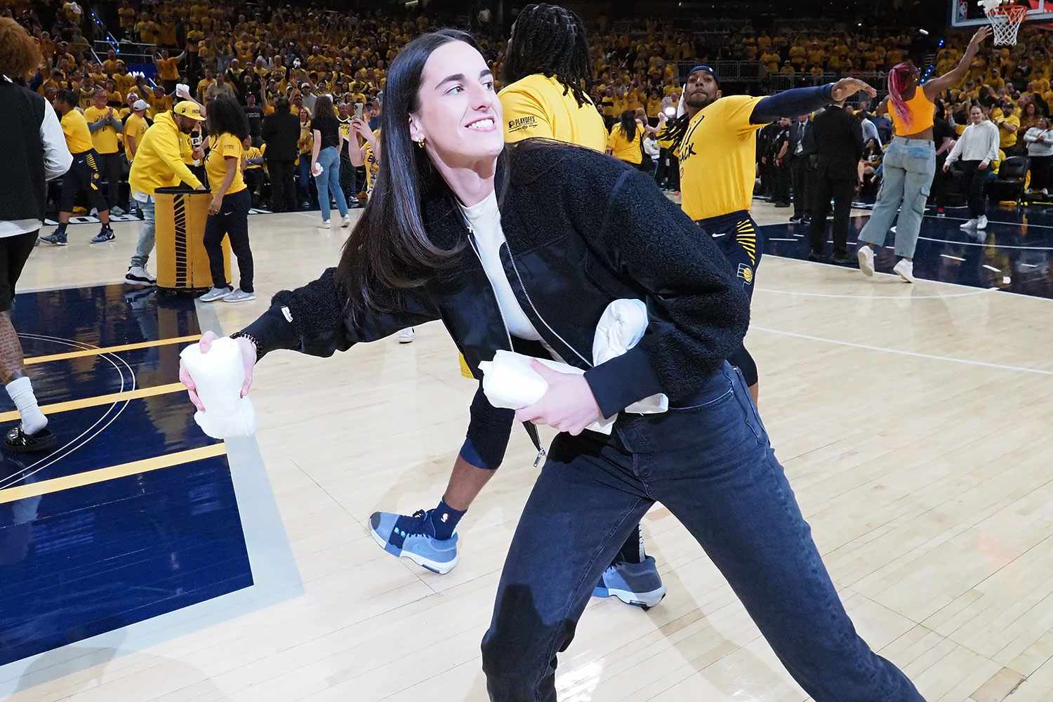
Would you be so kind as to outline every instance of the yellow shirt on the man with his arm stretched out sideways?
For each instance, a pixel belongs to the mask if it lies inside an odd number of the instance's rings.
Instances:
[[[680,142],[680,195],[694,220],[749,209],[756,179],[756,132],[750,115],[763,98],[732,95],[703,107]]]

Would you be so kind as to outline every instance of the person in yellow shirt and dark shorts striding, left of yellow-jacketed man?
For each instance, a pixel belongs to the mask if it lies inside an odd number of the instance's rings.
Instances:
[[[103,94],[104,95],[104,94]],[[103,100],[103,104],[105,101]],[[55,112],[60,117],[62,134],[65,135],[66,146],[73,155],[73,165],[62,176],[62,194],[59,196],[59,225],[52,234],[40,237],[40,240],[55,246],[66,245],[66,226],[73,214],[77,196],[87,194],[92,206],[99,213],[102,228],[92,239],[93,244],[113,241],[114,230],[110,228],[110,203],[103,195],[96,161],[95,148],[92,144],[92,132],[88,129],[84,116],[77,111],[77,95],[73,91],[59,91],[54,101]]]

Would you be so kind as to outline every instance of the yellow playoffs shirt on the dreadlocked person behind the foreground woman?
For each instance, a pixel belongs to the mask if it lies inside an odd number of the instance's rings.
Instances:
[[[498,97],[504,113],[504,140],[544,137],[603,152],[607,128],[591,102],[578,105],[570,91],[555,78],[526,76],[506,86]]]

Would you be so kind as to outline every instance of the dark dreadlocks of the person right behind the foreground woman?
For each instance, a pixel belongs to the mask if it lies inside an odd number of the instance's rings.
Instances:
[[[593,85],[585,25],[573,11],[540,3],[526,5],[516,17],[504,58],[504,82],[533,74],[556,78],[578,106],[592,104]]]

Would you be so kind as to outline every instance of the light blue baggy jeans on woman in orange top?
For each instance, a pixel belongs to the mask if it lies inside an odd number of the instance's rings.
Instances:
[[[885,178],[870,221],[859,233],[859,241],[885,245],[885,237],[896,222],[896,256],[914,258],[921,232],[921,218],[936,173],[936,147],[929,139],[893,137],[881,161]]]

